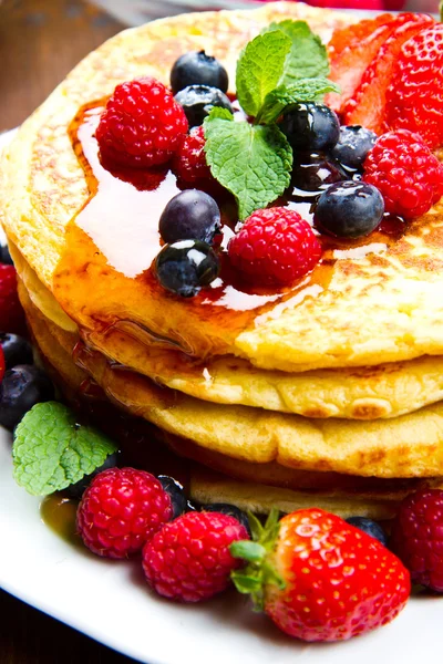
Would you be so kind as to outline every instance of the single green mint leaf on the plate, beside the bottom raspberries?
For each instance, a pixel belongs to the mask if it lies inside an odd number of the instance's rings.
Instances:
[[[78,425],[58,402],[37,404],[16,429],[16,481],[33,496],[47,496],[99,468],[116,445],[97,429]]]

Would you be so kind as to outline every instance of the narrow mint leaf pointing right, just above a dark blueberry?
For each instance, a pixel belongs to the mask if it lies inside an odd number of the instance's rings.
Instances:
[[[280,85],[266,95],[257,122],[276,122],[284,111],[298,102],[315,102],[327,92],[340,92],[340,89],[327,79],[301,79],[289,86]]]

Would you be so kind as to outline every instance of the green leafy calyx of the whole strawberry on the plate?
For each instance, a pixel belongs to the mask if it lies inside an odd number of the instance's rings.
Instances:
[[[255,515],[248,512],[251,540],[240,540],[229,547],[230,554],[246,561],[246,567],[231,572],[231,580],[243,594],[250,594],[255,611],[264,609],[264,589],[274,584],[280,590],[286,588],[285,580],[278,574],[272,556],[280,531],[279,511],[271,509],[265,526]]]

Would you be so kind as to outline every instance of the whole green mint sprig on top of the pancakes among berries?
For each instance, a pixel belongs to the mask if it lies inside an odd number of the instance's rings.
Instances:
[[[254,123],[214,108],[205,121],[206,160],[231,191],[240,220],[276,200],[290,183],[292,148],[277,121],[298,102],[339,92],[328,81],[327,51],[305,21],[271,23],[243,50],[237,100]]]

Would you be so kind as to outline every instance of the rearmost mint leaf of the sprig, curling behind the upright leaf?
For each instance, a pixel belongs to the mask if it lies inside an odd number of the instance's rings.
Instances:
[[[270,23],[266,34],[279,30],[291,40],[291,48],[285,61],[285,68],[279,85],[291,85],[299,79],[317,79],[329,74],[329,61],[326,46],[321,39],[313,34],[306,21]],[[274,87],[277,87],[275,85]]]

